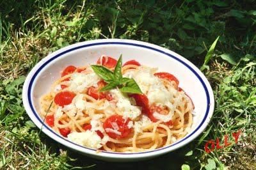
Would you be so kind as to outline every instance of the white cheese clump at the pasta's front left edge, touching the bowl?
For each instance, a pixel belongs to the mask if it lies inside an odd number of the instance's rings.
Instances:
[[[68,139],[89,148],[99,149],[102,146],[102,140],[99,135],[92,130],[86,130],[86,132],[72,132],[68,134]]]

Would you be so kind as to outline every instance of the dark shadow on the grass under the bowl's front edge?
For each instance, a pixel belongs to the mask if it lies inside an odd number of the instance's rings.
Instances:
[[[60,154],[60,150],[67,151],[68,157],[75,159],[74,161],[69,161],[73,169],[80,169],[78,167],[83,167],[86,169],[88,166],[92,166],[89,169],[180,169],[182,164],[186,164],[186,160],[195,160],[195,157],[185,156],[188,153],[189,148],[193,147],[193,144],[188,144],[188,146],[179,148],[178,150],[172,151],[171,153],[166,153],[156,158],[151,158],[148,160],[143,160],[139,162],[106,162],[104,160],[97,160],[95,158],[87,157],[77,151],[70,150],[66,146],[57,143],[46,135],[40,135],[42,141],[47,145],[51,146],[51,152]],[[193,161],[193,167],[200,167],[198,161]],[[94,165],[94,166],[93,166]],[[77,168],[74,168],[77,167]]]

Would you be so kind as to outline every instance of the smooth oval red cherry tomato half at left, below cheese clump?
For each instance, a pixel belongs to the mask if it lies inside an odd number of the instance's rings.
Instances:
[[[61,91],[60,93],[57,93],[54,97],[54,102],[57,105],[63,106],[71,104],[73,98],[76,96],[75,93],[72,93],[70,91]]]

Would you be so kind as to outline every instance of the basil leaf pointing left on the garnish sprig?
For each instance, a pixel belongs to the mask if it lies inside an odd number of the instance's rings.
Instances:
[[[113,72],[104,66],[92,65],[92,70],[106,82],[111,82],[114,79]]]

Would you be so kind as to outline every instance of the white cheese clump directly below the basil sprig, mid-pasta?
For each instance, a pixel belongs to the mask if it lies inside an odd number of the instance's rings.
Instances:
[[[116,107],[122,112],[124,119],[131,118],[134,120],[141,114],[141,107],[131,105],[129,97],[125,96],[119,89],[111,89],[111,95],[117,100]]]

